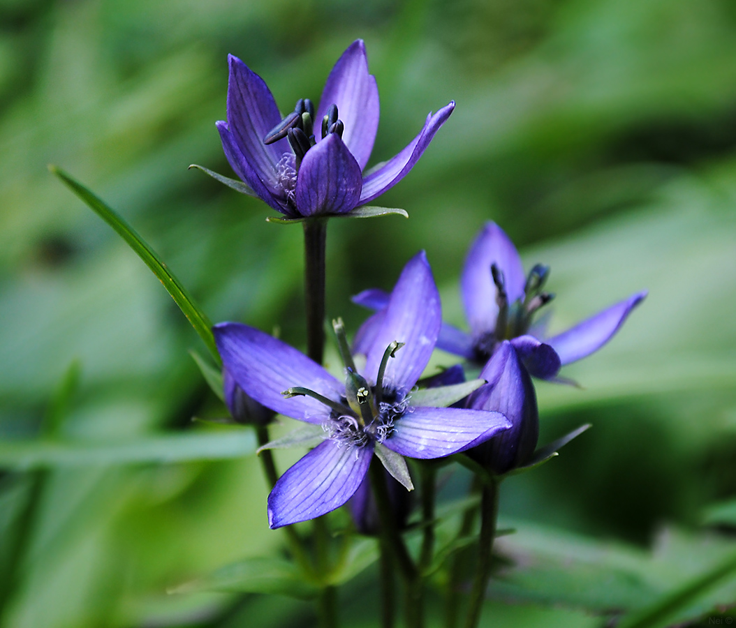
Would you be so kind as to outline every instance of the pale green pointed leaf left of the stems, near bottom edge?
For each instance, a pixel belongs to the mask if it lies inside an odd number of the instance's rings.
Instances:
[[[209,576],[171,589],[169,593],[199,591],[267,593],[310,599],[319,589],[305,580],[294,563],[277,557],[255,557],[226,565]]]

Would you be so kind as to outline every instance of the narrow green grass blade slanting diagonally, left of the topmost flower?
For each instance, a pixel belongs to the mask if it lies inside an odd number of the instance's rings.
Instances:
[[[171,295],[171,299],[174,299],[174,302],[188,318],[192,327],[194,327],[194,331],[199,334],[199,338],[202,338],[202,341],[219,364],[220,357],[215,345],[215,338],[212,334],[212,323],[210,323],[207,315],[202,312],[202,309],[197,305],[194,299],[192,299],[191,295],[188,293],[186,288],[184,288],[179,279],[177,279],[174,273],[169,271],[169,268],[166,267],[166,264],[161,260],[156,251],[154,251],[148,243],[146,243],[146,241],[141,238],[137,232],[135,232],[135,229],[133,229],[130,224],[127,224],[121,215],[113,210],[112,207],[105,204],[102,199],[99,199],[99,197],[95,196],[90,190],[85,188],[84,185],[75,179],[72,179],[71,176],[66,174],[63,170],[60,170],[60,168],[57,168],[55,165],[49,165],[49,171],[58,176],[72,192],[77,194],[77,196],[79,196],[79,198],[82,199],[82,201],[84,201],[91,210],[93,210],[93,212],[113,227],[113,229],[118,232],[118,235],[127,242],[128,246],[138,254],[138,257],[146,263],[146,265],[153,271],[153,274],[155,274],[163,284],[163,287],[166,288],[166,291]]]

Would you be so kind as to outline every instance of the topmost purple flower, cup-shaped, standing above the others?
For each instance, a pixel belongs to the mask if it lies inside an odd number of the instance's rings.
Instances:
[[[263,79],[237,57],[228,60],[227,122],[217,123],[225,156],[245,191],[289,218],[344,214],[381,196],[408,174],[455,107],[428,115],[406,148],[364,176],[379,107],[361,40],[335,64],[316,112],[300,99],[283,119]]]

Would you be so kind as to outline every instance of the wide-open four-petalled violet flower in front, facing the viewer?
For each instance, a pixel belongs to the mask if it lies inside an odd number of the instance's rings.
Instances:
[[[422,252],[389,296],[367,346],[363,377],[350,367],[347,382],[339,382],[297,349],[247,325],[214,327],[224,368],[252,399],[325,429],[325,440],[271,491],[272,528],[342,506],[358,490],[374,452],[391,472],[400,456],[447,456],[509,427],[500,413],[412,404],[411,389],[434,350],[441,321],[439,293]]]

